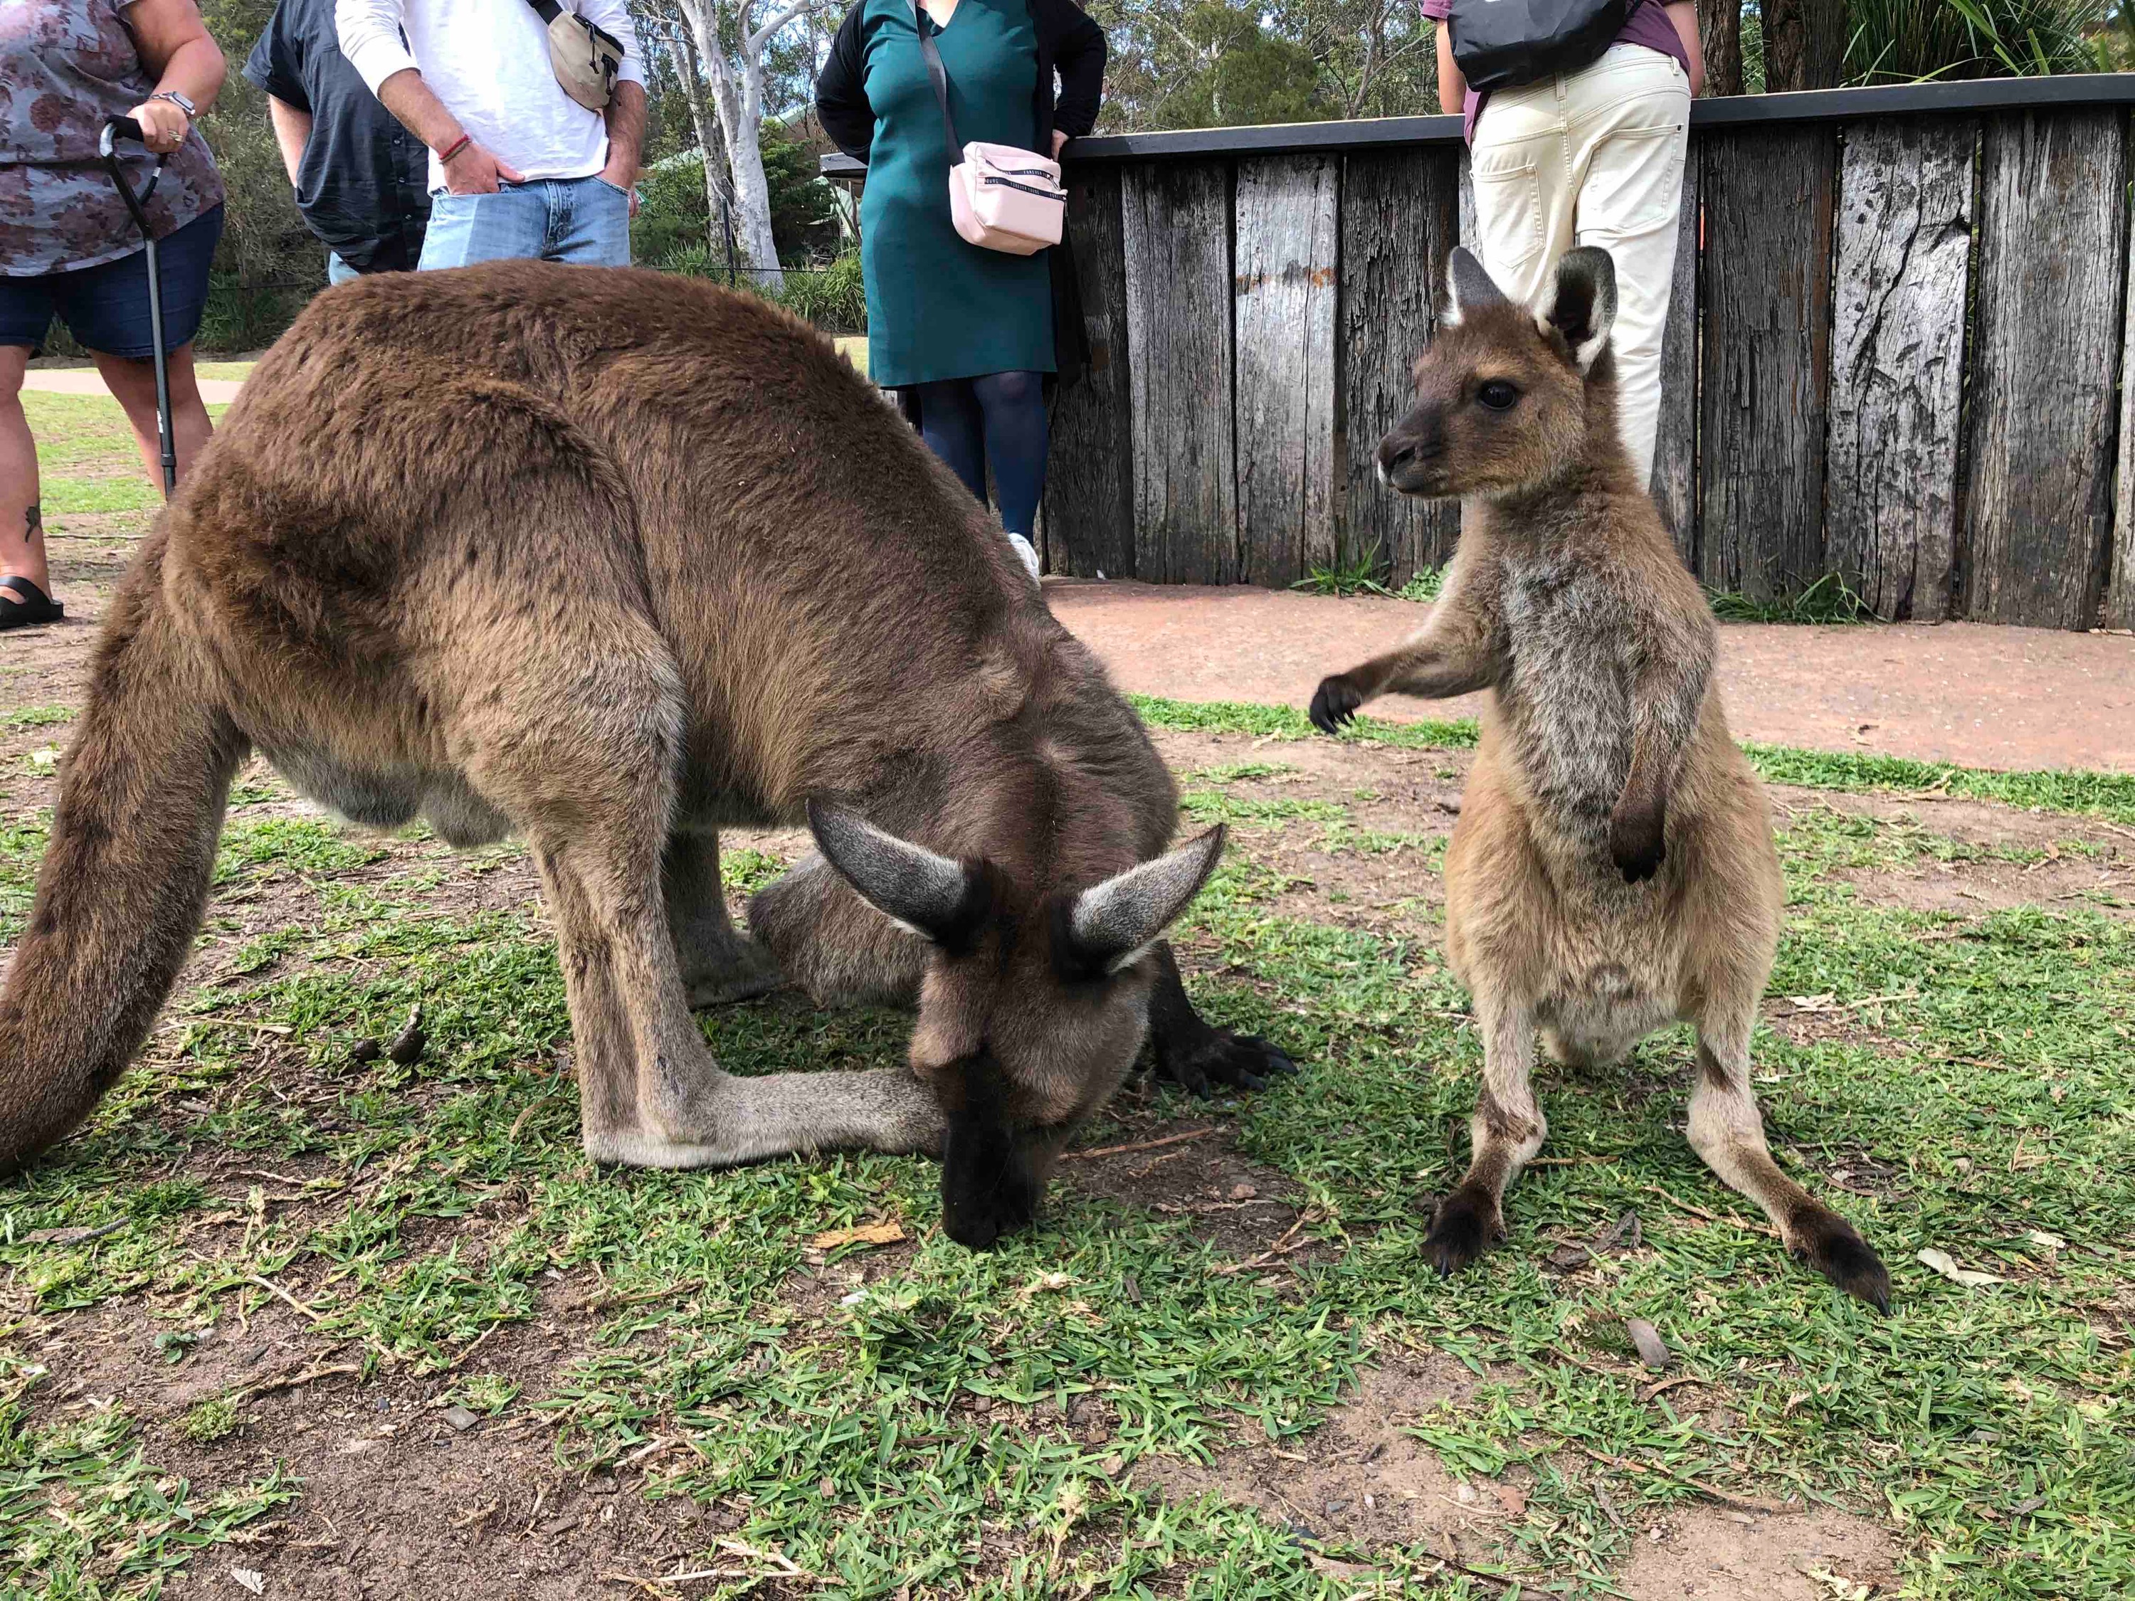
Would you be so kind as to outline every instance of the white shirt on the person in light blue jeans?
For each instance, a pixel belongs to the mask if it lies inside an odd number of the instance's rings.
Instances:
[[[572,9],[623,43],[619,77],[643,83],[626,0],[576,0]],[[371,94],[416,68],[476,143],[529,179],[591,177],[608,164],[608,126],[557,85],[549,30],[527,0],[335,0],[333,21],[342,56]],[[444,188],[438,152],[429,154],[429,186]]]

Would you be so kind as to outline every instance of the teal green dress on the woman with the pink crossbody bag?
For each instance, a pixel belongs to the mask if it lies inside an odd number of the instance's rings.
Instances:
[[[867,102],[875,141],[860,194],[867,369],[886,386],[1053,371],[1053,271],[1046,252],[980,250],[948,211],[950,147],[927,81],[912,0],[867,0]],[[1025,0],[956,0],[935,28],[948,105],[963,143],[1038,137],[1038,30]]]

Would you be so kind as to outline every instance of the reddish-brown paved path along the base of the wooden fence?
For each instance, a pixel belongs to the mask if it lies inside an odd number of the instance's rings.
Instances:
[[[1424,608],[1270,589],[1050,578],[1053,615],[1123,689],[1304,707],[1326,672],[1405,638]],[[1740,739],[1994,768],[2135,773],[2135,638],[1988,623],[1721,623]],[[1480,698],[1381,700],[1383,717],[1473,717]]]

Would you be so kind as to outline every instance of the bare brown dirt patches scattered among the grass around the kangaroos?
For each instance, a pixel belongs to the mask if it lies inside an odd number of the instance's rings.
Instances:
[[[68,728],[58,717],[26,713],[79,704],[94,621],[126,553],[122,529],[124,519],[77,517],[56,532],[53,555],[66,574],[70,619],[62,628],[6,636],[0,715],[15,717],[0,722],[0,822],[30,824],[53,800],[51,762],[41,754],[64,747]],[[1275,877],[1260,916],[1413,941],[1413,950],[1435,948],[1443,905],[1439,860],[1458,818],[1467,754],[1191,732],[1159,732],[1157,743],[1181,773],[1189,811],[1228,815],[1240,854]],[[1954,920],[1947,933],[1924,939],[1966,937],[1966,920],[2009,907],[2079,905],[2112,920],[2126,920],[2135,907],[2135,833],[2116,824],[1934,794],[1774,790],[1774,800],[1789,875],[1802,894],[1813,890],[1862,907]],[[305,803],[275,792],[263,771],[239,781],[237,824],[312,815]],[[521,916],[540,924],[534,875],[510,850],[476,858],[468,869],[446,862],[442,847],[429,841],[357,843],[357,856],[335,858],[318,871],[278,871],[218,894],[179,995],[389,961],[303,946],[263,948],[290,924],[316,920],[322,888],[406,901],[427,914]],[[737,833],[726,845],[786,858],[798,837]],[[1187,961],[1196,973],[1221,971],[1221,941],[1187,941]],[[1262,984],[1266,976],[1238,971],[1234,978]],[[1896,1042],[1883,1031],[1875,999],[1772,995],[1766,1014],[1783,1037],[1804,1048],[1851,1042],[1883,1050]],[[801,1010],[792,999],[773,1008]],[[149,1055],[179,1063],[196,1016],[171,1018]],[[286,1033],[286,1027],[280,1035],[263,1027],[235,1074],[196,1093],[173,1093],[152,1112],[175,1153],[160,1183],[199,1185],[177,1245],[209,1268],[222,1259],[250,1262],[243,1242],[271,1223],[354,1227],[369,1198],[408,1178],[408,1170],[395,1172],[391,1153],[357,1172],[325,1157],[252,1157],[213,1140],[192,1140],[201,1119],[248,1097],[273,1097],[290,1116],[318,1119],[333,1131],[335,1108],[352,1084],[365,1093],[427,1097],[438,1108],[455,1093],[431,1080],[384,1076],[374,1082],[376,1063],[305,1061],[284,1046]],[[529,1140],[568,1142],[572,1097],[562,1078],[568,1046],[555,1046],[542,1072],[553,1074],[555,1084],[517,1112],[510,1138],[525,1131]],[[1618,1106],[1638,1104],[1646,1093],[1635,1080],[1597,1080],[1580,1093],[1588,1089]],[[1296,1300],[1313,1274],[1341,1266],[1341,1253],[1309,1232],[1326,1221],[1324,1204],[1279,1168],[1247,1157],[1228,1112],[1181,1114],[1138,1084],[1114,1114],[1117,1129],[1102,1144],[1063,1163],[1063,1189],[1183,1223],[1183,1240],[1202,1242],[1217,1255],[1217,1274],[1251,1281],[1277,1298]],[[1527,1183],[1548,1183],[1552,1163],[1563,1172],[1588,1159],[1614,1161],[1552,1151],[1537,1163],[1541,1178]],[[1896,1168],[1860,1153],[1819,1151],[1808,1159],[1828,1183],[1855,1195],[1887,1193],[1900,1183]],[[1714,1185],[1697,1193],[1706,1206],[1689,1210],[1710,1223],[1734,1210]],[[542,1217],[542,1208],[538,1189],[502,1172],[468,1180],[453,1208],[414,1208],[395,1227],[410,1259],[450,1251],[457,1270],[480,1274],[487,1262],[515,1249],[515,1238]],[[64,1230],[58,1234],[53,1245],[75,1242]],[[1360,1230],[1358,1238],[1369,1240],[1371,1230]],[[1569,1236],[1554,1236],[1563,1238]],[[916,1247],[899,1236],[873,1251],[843,1255],[843,1249],[850,1247],[813,1251],[784,1283],[779,1304],[790,1319],[784,1328],[841,1328],[854,1300],[897,1291]],[[1618,1274],[1612,1266],[1588,1270],[1576,1251],[1556,1270],[1578,1274],[1580,1294],[1610,1294]],[[2005,1272],[2022,1277],[2015,1268]],[[632,1291],[619,1294],[594,1272],[549,1270],[536,1281],[529,1306],[491,1323],[440,1366],[374,1360],[384,1349],[378,1336],[350,1332],[346,1321],[322,1326],[312,1302],[333,1294],[333,1283],[335,1272],[318,1259],[275,1277],[246,1270],[222,1287],[235,1294],[237,1313],[216,1319],[179,1349],[171,1343],[175,1302],[160,1304],[154,1294],[120,1294],[68,1311],[49,1298],[41,1302],[21,1277],[0,1291],[9,1338],[51,1375],[28,1394],[32,1426],[120,1407],[137,1420],[139,1445],[156,1462],[158,1484],[190,1481],[203,1494],[275,1475],[301,1484],[301,1492],[271,1516],[235,1528],[190,1567],[175,1567],[164,1595],[239,1595],[252,1588],[252,1575],[265,1575],[267,1595],[322,1601],[350,1595],[453,1601],[702,1595],[705,1586],[743,1582],[764,1595],[811,1595],[828,1584],[822,1573],[801,1573],[779,1552],[737,1533],[747,1526],[756,1492],[662,1492],[679,1484],[685,1469],[696,1469],[705,1449],[673,1424],[673,1415],[647,1415],[638,1443],[591,1467],[570,1467],[557,1415],[532,1411],[523,1400],[512,1405],[512,1398],[557,1392],[589,1360],[613,1358],[617,1347],[600,1345],[613,1341],[613,1330],[602,1334],[602,1317],[628,1304]],[[1157,1294],[1157,1285],[1138,1285],[1134,1274],[1125,1285],[1125,1298],[1136,1304]],[[666,1304],[687,1294],[685,1285],[649,1300]],[[2124,1309],[2118,1326],[2107,1313],[2101,1306],[2101,1328],[2124,1349],[2124,1332],[2114,1334],[2124,1328]],[[628,1338],[621,1349],[632,1349]],[[1001,1366],[995,1360],[986,1373]],[[1584,1358],[1580,1366],[1595,1368],[1595,1360]],[[1640,1405],[1650,1405],[1652,1385],[1635,1366],[1603,1358],[1599,1370],[1646,1396]],[[1454,1471],[1416,1430],[1482,1407],[1484,1383],[1518,1390],[1518,1375],[1507,1366],[1480,1375],[1452,1356],[1381,1347],[1364,1364],[1362,1385],[1317,1428],[1285,1434],[1281,1445],[1243,1443],[1245,1437],[1232,1432],[1217,1441],[1206,1464],[1159,1454],[1123,1479],[1155,1488],[1166,1501],[1215,1496],[1225,1507],[1253,1509],[1277,1537],[1309,1543],[1313,1571],[1337,1586],[1369,1586],[1371,1558],[1396,1550],[1409,1552],[1411,1573],[1448,1582],[1462,1569],[1490,1573],[1529,1560],[1512,1531],[1520,1528],[1520,1539],[1533,1545],[1529,1511],[1541,1516],[1535,1499],[1544,1477],[1569,1479],[1595,1496],[1603,1513],[1593,1535],[1597,1548],[1614,1541],[1614,1550],[1625,1552],[1608,1582],[1638,1601],[1832,1601],[1883,1592],[1896,1582],[1902,1548],[1885,1522],[1868,1516],[1866,1499],[1862,1511],[1800,1501],[1764,1511],[1746,1509],[1742,1499],[1695,1494],[1665,1507],[1618,1507],[1608,1484],[1618,1481],[1620,1496],[1620,1473],[1635,1481],[1652,1469],[1616,1462],[1612,1479],[1597,1469],[1606,1462],[1569,1443],[1546,1445],[1535,1460],[1503,1473]],[[1670,1407],[1689,1400],[1678,1392]],[[218,1422],[211,1409],[222,1402],[231,1402],[228,1417]],[[1046,1405],[965,1394],[956,1415],[974,1426],[1042,1424],[1089,1452],[1114,1449],[1125,1417],[1114,1400],[1091,1392],[1057,1411]],[[1740,1407],[1704,1405],[1704,1413],[1691,1411],[1704,1439],[1729,1437],[1740,1424]],[[828,1477],[824,1484],[835,1496],[848,1494]],[[848,1501],[839,1516],[863,1513]],[[1014,1550],[1044,1548],[1042,1537],[1023,1531],[1001,1539]],[[1341,1554],[1317,1554],[1322,1548]],[[1059,1537],[1053,1537],[1050,1556],[1061,1556]],[[662,1580],[683,1573],[696,1578]],[[1484,1595],[1503,1588],[1494,1578],[1475,1584]],[[1164,1584],[1166,1592],[1176,1588]]]

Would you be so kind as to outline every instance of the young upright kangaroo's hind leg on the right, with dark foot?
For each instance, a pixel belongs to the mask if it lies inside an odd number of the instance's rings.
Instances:
[[[1789,1255],[1855,1300],[1889,1311],[1889,1270],[1838,1212],[1787,1178],[1764,1142],[1764,1116],[1749,1076],[1751,1001],[1714,1001],[1697,1020],[1697,1082],[1691,1089],[1691,1146],[1729,1189],[1772,1219]]]

